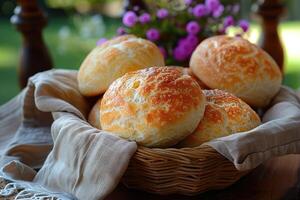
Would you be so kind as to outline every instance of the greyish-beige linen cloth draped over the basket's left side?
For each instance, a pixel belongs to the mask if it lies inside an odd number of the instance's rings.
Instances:
[[[77,89],[76,76],[65,70],[39,73],[0,108],[0,167],[8,178],[34,182],[30,190],[36,193],[103,199],[118,184],[137,146],[90,127],[90,105]]]

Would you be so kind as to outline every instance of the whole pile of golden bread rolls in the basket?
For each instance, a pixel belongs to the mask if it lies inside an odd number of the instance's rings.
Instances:
[[[282,75],[262,49],[240,37],[214,36],[190,68],[165,66],[159,48],[132,35],[97,46],[78,73],[84,96],[98,96],[88,121],[147,147],[195,147],[260,125]]]

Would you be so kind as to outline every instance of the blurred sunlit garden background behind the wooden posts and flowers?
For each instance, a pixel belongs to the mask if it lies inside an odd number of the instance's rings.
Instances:
[[[256,42],[260,27],[250,11],[255,1],[241,2],[242,15],[251,21],[247,37]],[[46,0],[39,3],[48,13],[44,39],[56,68],[78,69],[97,40],[113,37],[121,24],[121,0]],[[300,1],[287,0],[286,4],[288,12],[279,27],[285,49],[284,83],[296,89],[300,87],[300,12],[297,10]],[[10,24],[15,6],[15,1],[0,1],[0,105],[20,91],[17,66],[21,37]]]

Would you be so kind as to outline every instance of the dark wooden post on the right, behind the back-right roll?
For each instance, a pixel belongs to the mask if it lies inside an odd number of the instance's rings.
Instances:
[[[258,0],[254,12],[261,18],[259,45],[274,58],[283,72],[284,53],[277,29],[285,6],[281,0]]]

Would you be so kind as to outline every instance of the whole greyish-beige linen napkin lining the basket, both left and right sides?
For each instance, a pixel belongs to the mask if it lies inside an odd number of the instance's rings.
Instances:
[[[120,181],[137,145],[91,127],[93,102],[79,93],[76,77],[70,70],[39,73],[0,107],[0,198],[103,199]],[[299,153],[300,99],[282,87],[261,126],[207,144],[238,170]]]

